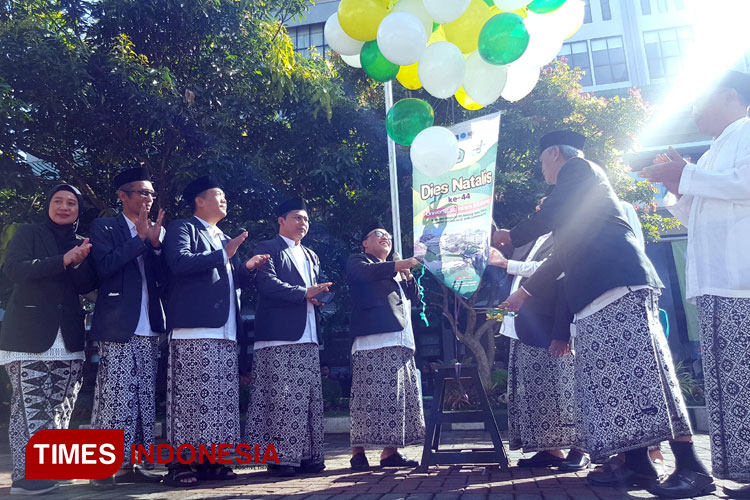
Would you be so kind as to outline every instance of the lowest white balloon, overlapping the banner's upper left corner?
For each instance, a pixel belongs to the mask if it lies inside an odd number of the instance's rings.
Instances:
[[[456,165],[458,140],[445,127],[429,127],[414,138],[409,156],[414,168],[428,177],[437,177]]]

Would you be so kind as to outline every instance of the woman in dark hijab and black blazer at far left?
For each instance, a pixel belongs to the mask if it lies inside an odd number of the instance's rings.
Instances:
[[[91,244],[76,234],[81,205],[78,189],[54,187],[47,220],[19,226],[8,246],[5,273],[13,293],[0,330],[0,365],[13,386],[11,495],[57,487],[52,480],[25,478],[24,450],[34,433],[68,427],[81,387],[85,314],[78,296],[96,286],[86,261]]]

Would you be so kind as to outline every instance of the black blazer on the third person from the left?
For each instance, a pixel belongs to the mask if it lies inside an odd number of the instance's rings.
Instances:
[[[224,235],[223,244],[229,241]],[[167,329],[219,328],[229,318],[229,301],[235,301],[237,340],[244,342],[240,304],[229,294],[229,274],[222,248],[213,244],[203,223],[195,217],[172,221],[162,242],[162,254],[170,272],[167,292]],[[248,271],[239,255],[230,259],[234,287],[247,288],[254,272]],[[231,297],[230,297],[231,295]]]

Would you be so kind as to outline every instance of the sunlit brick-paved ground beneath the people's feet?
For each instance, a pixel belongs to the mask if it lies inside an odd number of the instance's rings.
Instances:
[[[119,486],[116,490],[96,492],[85,482],[62,485],[41,498],[55,499],[234,499],[263,500],[530,500],[540,499],[618,499],[653,498],[644,490],[616,490],[588,486],[585,473],[556,474],[547,469],[498,468],[476,466],[436,466],[429,473],[408,470],[378,469],[368,472],[349,471],[348,436],[326,436],[326,470],[319,475],[298,476],[292,479],[274,478],[265,470],[238,470],[234,481],[206,482],[197,488],[170,489],[163,485]],[[446,433],[444,440],[457,443],[487,444],[488,437],[478,431]],[[697,436],[700,455],[710,463],[708,438]],[[668,447],[665,447],[668,448]],[[410,457],[421,457],[421,446],[407,448]],[[513,463],[523,455],[511,452]],[[665,449],[667,466],[671,469],[672,456]],[[378,463],[378,452],[368,452],[371,464]],[[10,457],[7,448],[0,449],[0,496],[8,496],[10,487]],[[722,484],[721,481],[718,482]],[[717,496],[722,498],[721,489]]]

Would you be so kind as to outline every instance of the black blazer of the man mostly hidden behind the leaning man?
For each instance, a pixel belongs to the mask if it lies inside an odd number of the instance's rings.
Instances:
[[[553,239],[550,237],[542,243],[534,255],[529,256],[530,259],[523,258],[523,260],[539,262],[550,258],[552,249]],[[521,257],[518,258],[518,260],[521,259]],[[521,279],[520,285],[523,286],[527,280],[528,278]],[[552,340],[563,342],[570,340],[573,313],[570,312],[565,300],[563,283],[564,278],[556,280],[552,286],[542,288],[539,293],[526,299],[513,321],[519,341],[547,348]]]

